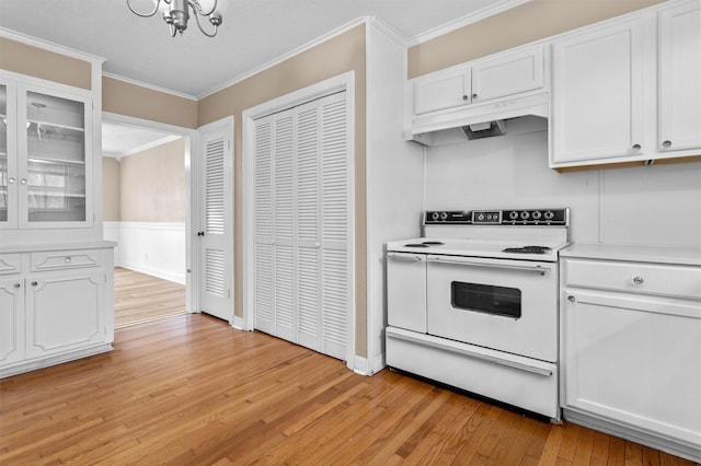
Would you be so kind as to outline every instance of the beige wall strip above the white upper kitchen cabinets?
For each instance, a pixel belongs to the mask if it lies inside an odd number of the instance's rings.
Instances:
[[[409,49],[409,79],[555,34],[594,24],[663,0],[532,0]]]

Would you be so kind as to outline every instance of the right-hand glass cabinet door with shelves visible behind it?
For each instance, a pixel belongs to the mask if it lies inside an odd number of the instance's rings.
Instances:
[[[21,96],[24,127],[19,132],[26,158],[20,166],[20,225],[84,224],[89,212],[89,102],[33,90]]]

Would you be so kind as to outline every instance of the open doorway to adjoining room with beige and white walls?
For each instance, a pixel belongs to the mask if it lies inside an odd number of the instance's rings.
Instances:
[[[103,237],[115,241],[115,328],[192,312],[191,130],[103,115]]]

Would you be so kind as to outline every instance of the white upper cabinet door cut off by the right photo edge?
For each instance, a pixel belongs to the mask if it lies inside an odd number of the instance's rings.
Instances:
[[[701,148],[701,1],[659,13],[658,150]]]

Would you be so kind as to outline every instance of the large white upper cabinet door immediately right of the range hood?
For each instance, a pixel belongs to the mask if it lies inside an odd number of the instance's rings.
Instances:
[[[643,158],[643,51],[642,21],[553,44],[551,166]]]

